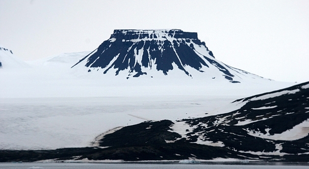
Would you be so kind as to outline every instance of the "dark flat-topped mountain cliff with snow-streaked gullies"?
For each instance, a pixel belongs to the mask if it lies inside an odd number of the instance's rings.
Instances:
[[[104,74],[111,71],[118,75],[125,71],[127,78],[146,75],[150,70],[167,75],[174,69],[192,76],[187,67],[206,72],[210,66],[227,80],[233,81],[234,77],[232,68],[217,61],[197,33],[180,29],[114,30],[108,40],[76,65],[79,64],[88,67],[88,72],[102,69]]]

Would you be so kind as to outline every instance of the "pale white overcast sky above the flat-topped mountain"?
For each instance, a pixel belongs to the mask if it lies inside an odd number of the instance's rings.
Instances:
[[[0,44],[23,60],[93,50],[114,29],[197,32],[214,56],[309,81],[309,0],[0,0]]]

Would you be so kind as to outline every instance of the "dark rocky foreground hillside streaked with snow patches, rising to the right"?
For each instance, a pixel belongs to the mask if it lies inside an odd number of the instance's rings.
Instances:
[[[178,154],[177,156],[183,158],[205,160],[221,157],[308,161],[306,159],[309,157],[308,131],[307,136],[292,140],[284,140],[284,138],[277,140],[260,136],[268,132],[270,136],[281,134],[309,120],[308,85],[309,82],[306,82],[286,89],[236,100],[235,102],[239,103],[246,101],[246,104],[230,113],[181,120],[188,126],[185,137],[181,137],[176,131],[173,132],[171,127],[174,122],[172,121],[149,121],[124,127],[106,135],[99,143],[101,146],[111,147],[160,145],[161,152],[167,151],[169,146],[181,145],[181,150],[173,150],[174,156]],[[260,107],[269,108],[259,109]],[[241,124],[241,122],[244,123]],[[249,131],[261,134],[252,135],[249,134]],[[197,144],[198,139],[212,143],[221,142],[223,146]],[[193,145],[199,147],[204,153],[196,153],[197,150],[191,147]],[[186,150],[184,151],[184,149]],[[211,151],[211,155],[208,154],[209,151]],[[136,158],[139,159],[139,157]]]

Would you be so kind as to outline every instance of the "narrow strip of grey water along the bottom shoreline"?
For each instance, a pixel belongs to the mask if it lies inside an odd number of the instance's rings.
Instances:
[[[307,164],[305,164],[307,165]],[[293,165],[0,163],[0,169],[309,169]]]

